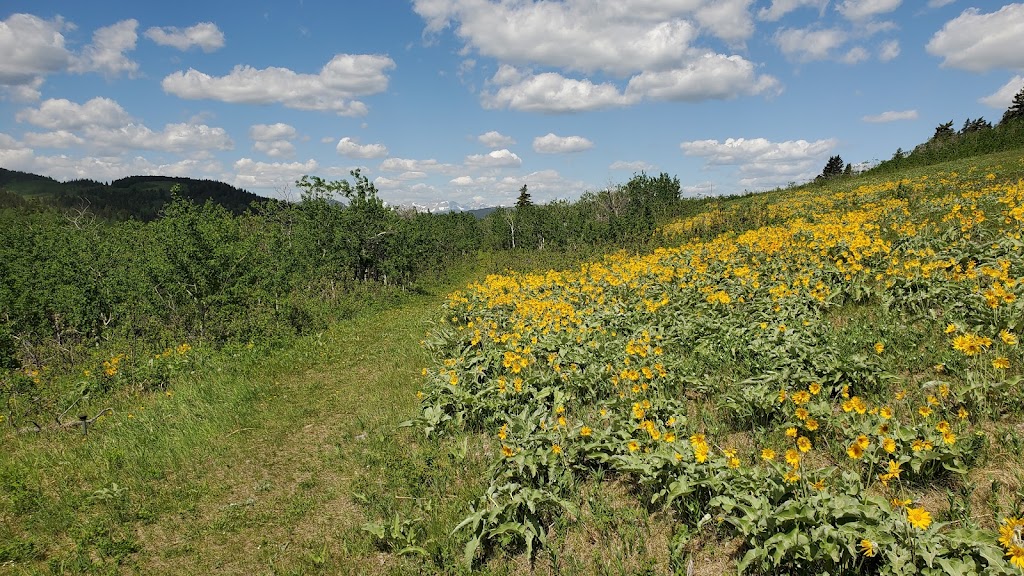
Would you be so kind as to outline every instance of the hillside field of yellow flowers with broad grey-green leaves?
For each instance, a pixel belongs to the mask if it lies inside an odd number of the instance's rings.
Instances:
[[[740,537],[740,572],[1017,573],[1021,510],[927,496],[970,486],[993,422],[1021,414],[1024,180],[742,206],[756,228],[709,237],[744,216],[713,204],[652,253],[450,296],[417,423],[501,440],[467,559],[543,545],[600,471],[686,533]]]

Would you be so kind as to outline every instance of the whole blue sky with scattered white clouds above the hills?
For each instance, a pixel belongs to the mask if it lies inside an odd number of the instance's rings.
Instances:
[[[101,7],[97,7],[101,6]],[[637,171],[688,196],[887,159],[997,121],[1024,3],[7,0],[0,166],[295,195],[360,167],[391,204],[574,199]]]

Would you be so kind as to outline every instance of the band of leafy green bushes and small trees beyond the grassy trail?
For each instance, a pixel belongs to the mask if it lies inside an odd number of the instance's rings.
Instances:
[[[680,199],[678,178],[639,174],[577,202],[536,205],[524,186],[516,207],[477,219],[389,208],[352,175],[304,177],[301,202],[240,213],[187,198],[168,178],[174,193],[151,221],[0,194],[0,369],[72,366],[112,346],[287,337],[343,318],[371,293],[417,290],[481,250],[639,247],[700,202]],[[129,191],[154,182],[125,178],[106,194],[123,190],[128,204]],[[188,181],[193,194],[216,184]]]

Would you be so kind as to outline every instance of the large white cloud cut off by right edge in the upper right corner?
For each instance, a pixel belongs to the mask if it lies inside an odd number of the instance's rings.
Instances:
[[[935,33],[926,49],[942,57],[944,68],[987,72],[1024,69],[1024,3],[1007,4],[995,12],[968,8]]]

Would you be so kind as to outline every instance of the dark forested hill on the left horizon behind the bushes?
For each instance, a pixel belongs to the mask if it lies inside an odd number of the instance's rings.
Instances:
[[[234,214],[245,212],[265,198],[216,180],[174,176],[129,176],[111,183],[91,179],[59,182],[53,178],[0,168],[0,206],[31,199],[60,208],[84,208],[112,219],[152,220],[171,200],[171,187],[180,184],[180,196],[197,203],[207,200]]]

